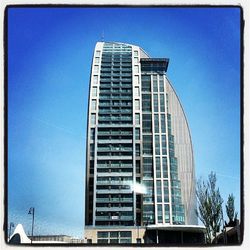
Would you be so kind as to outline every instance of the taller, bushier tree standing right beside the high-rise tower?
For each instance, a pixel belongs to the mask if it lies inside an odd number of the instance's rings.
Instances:
[[[207,243],[216,242],[216,232],[219,231],[222,221],[222,203],[219,188],[216,188],[216,174],[211,172],[208,181],[201,178],[197,181],[196,197],[198,209],[196,214],[206,227]]]

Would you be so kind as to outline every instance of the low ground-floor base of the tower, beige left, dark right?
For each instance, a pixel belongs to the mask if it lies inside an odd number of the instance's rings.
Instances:
[[[137,227],[88,227],[84,243],[203,245],[205,227],[196,225],[148,225]]]

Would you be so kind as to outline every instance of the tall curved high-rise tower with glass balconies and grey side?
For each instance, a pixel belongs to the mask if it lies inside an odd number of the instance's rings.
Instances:
[[[192,143],[166,71],[138,46],[98,42],[89,89],[85,238],[143,242],[146,228],[197,225]]]

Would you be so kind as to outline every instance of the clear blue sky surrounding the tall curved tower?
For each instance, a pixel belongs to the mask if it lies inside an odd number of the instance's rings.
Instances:
[[[81,237],[87,100],[95,43],[170,59],[192,134],[196,176],[217,173],[240,211],[239,8],[10,8],[9,221]]]

